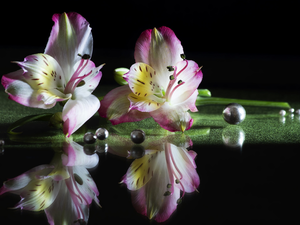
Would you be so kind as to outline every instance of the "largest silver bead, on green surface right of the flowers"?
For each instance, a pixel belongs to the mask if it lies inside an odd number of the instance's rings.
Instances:
[[[230,103],[223,110],[223,118],[227,123],[239,124],[246,118],[246,110],[240,104]]]

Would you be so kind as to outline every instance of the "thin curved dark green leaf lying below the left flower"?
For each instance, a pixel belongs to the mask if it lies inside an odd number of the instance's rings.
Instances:
[[[25,117],[17,120],[16,122],[14,122],[13,124],[11,124],[8,127],[7,132],[9,134],[21,134],[22,132],[14,132],[14,130],[20,126],[23,126],[23,125],[31,122],[31,121],[50,121],[52,116],[53,116],[53,113],[43,113],[40,115],[25,116]]]

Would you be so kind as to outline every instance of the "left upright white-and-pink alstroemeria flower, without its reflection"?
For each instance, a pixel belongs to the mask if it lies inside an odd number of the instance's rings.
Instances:
[[[17,62],[22,68],[2,77],[9,98],[22,105],[48,109],[66,101],[63,131],[69,137],[100,107],[91,93],[98,86],[103,65],[95,67],[89,23],[77,13],[55,14],[54,26],[43,54]]]

